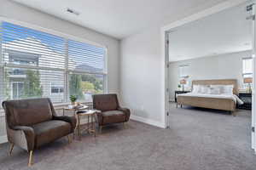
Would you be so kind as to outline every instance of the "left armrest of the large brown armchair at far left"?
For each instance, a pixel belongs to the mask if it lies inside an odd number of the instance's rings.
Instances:
[[[13,140],[12,142],[20,145],[20,147],[25,147],[26,150],[30,151],[34,149],[34,145],[35,145],[35,133],[34,133],[34,129],[32,127],[27,127],[27,126],[15,126],[12,127],[10,129],[11,131],[13,131],[13,133],[10,133],[10,138]],[[22,138],[24,138],[22,136],[22,133],[24,133],[25,137],[26,137],[26,144],[22,143],[23,140]]]

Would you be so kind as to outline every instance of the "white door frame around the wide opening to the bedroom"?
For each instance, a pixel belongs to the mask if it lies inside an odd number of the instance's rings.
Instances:
[[[165,61],[165,69],[164,69],[164,74],[165,74],[165,84],[164,84],[164,99],[165,99],[165,112],[164,112],[164,124],[165,127],[169,127],[169,120],[168,116],[170,115],[170,105],[169,105],[169,99],[170,99],[170,93],[169,93],[169,82],[170,82],[170,77],[169,77],[169,33],[172,32],[174,29],[176,29],[179,26],[183,26],[186,24],[189,24],[191,22],[194,22],[196,20],[201,20],[203,18],[206,18],[207,16],[210,16],[212,14],[217,14],[221,11],[224,11],[225,9],[228,8],[233,8],[236,7],[242,3],[247,3],[249,2],[248,0],[228,0],[225,1],[224,3],[218,3],[218,5],[213,6],[212,8],[207,8],[205,10],[202,10],[199,13],[192,14],[189,17],[184,18],[183,20],[177,20],[175,22],[172,22],[169,25],[163,26],[160,30],[160,36],[161,36],[161,54],[162,54],[162,59]],[[245,19],[246,20],[246,19]],[[256,48],[256,43],[254,43],[254,47]],[[256,53],[256,52],[255,52]],[[254,57],[255,58],[255,53]],[[254,59],[254,63],[256,65],[256,59]],[[256,67],[254,67],[253,72],[256,71]],[[256,74],[253,73],[254,80],[256,78]],[[254,83],[254,82],[253,82]],[[255,83],[254,83],[255,86]],[[254,88],[253,86],[253,88]],[[256,89],[256,86],[255,88]],[[253,95],[254,99],[253,101],[256,101],[256,95]],[[254,104],[253,104],[254,105]],[[253,110],[254,111],[254,110]],[[252,121],[252,125],[256,124],[256,117],[254,117],[255,120]],[[254,126],[255,127],[255,126]],[[252,135],[252,148],[256,152],[256,141],[254,139],[256,138],[256,134],[254,133],[254,138]]]

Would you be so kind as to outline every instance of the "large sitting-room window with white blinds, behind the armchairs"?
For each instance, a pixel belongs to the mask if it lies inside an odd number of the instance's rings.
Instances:
[[[1,22],[0,100],[104,93],[105,48]]]

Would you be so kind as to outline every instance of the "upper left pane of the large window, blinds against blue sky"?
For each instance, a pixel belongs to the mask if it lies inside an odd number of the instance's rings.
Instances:
[[[2,22],[2,51],[6,64],[64,69],[65,39],[42,31]]]

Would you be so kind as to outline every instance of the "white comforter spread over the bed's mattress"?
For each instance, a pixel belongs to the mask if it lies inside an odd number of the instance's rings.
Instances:
[[[220,98],[220,99],[233,99],[238,105],[242,105],[243,101],[239,99],[236,94],[177,94],[177,96],[190,96],[190,97],[203,97],[203,98]]]

